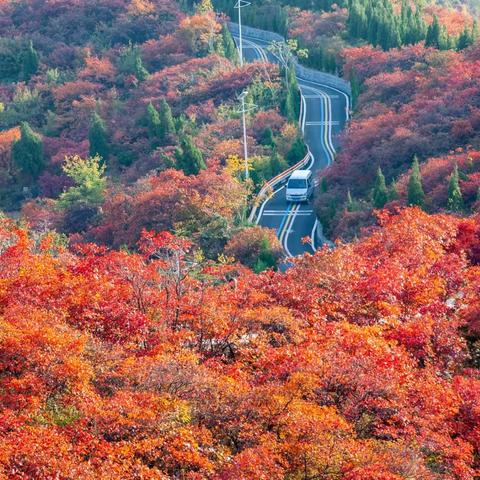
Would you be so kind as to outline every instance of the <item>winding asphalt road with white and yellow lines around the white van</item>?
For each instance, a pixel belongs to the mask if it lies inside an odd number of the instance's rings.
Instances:
[[[237,45],[238,38],[234,36]],[[268,51],[269,43],[252,36],[243,35],[245,61],[269,61],[278,59]],[[318,172],[328,167],[335,158],[339,133],[345,127],[348,117],[349,99],[345,93],[332,87],[297,77],[302,93],[300,126],[310,151],[310,162],[305,168]],[[313,253],[315,230],[318,220],[312,203],[296,204],[285,199],[285,185],[275,190],[259,210],[257,224],[275,229],[285,252],[289,257]],[[305,243],[303,239],[313,239]]]

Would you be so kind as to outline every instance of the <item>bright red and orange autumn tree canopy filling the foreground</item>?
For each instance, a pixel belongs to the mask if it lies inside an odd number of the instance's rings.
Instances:
[[[2,475],[473,478],[478,223],[381,223],[255,275],[3,221]]]

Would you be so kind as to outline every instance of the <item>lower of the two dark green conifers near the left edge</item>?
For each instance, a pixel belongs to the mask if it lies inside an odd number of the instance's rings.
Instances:
[[[33,181],[45,167],[43,142],[27,122],[21,124],[20,133],[12,147],[13,162],[28,181]]]

